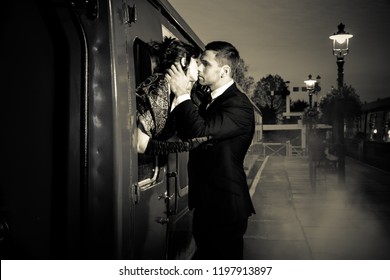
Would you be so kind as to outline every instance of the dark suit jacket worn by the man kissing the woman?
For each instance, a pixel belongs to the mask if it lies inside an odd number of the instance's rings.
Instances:
[[[189,208],[213,223],[246,219],[255,213],[243,167],[255,128],[253,106],[233,84],[204,107],[187,100],[173,111],[181,139],[212,137],[190,151]]]

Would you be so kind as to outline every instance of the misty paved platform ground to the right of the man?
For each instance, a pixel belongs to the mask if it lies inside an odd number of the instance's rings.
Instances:
[[[390,259],[390,173],[346,158],[344,185],[320,166],[314,189],[305,157],[257,162],[245,259]]]

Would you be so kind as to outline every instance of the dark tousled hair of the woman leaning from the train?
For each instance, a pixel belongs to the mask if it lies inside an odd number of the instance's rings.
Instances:
[[[153,72],[164,73],[172,64],[185,58],[185,65],[182,65],[184,72],[187,71],[191,57],[199,57],[201,50],[190,44],[184,43],[172,37],[164,37],[162,42],[152,41],[150,43],[151,53],[157,58],[157,66]]]

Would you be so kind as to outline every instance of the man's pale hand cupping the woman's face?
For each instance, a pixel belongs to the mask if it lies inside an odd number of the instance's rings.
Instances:
[[[190,93],[190,79],[184,73],[180,63],[172,65],[171,68],[168,69],[168,73],[165,74],[165,78],[168,80],[171,91],[176,97]]]

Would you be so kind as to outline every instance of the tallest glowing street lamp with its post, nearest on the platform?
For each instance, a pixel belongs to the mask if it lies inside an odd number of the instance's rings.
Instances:
[[[343,94],[344,85],[344,56],[349,52],[349,39],[353,37],[352,34],[345,32],[345,25],[340,23],[338,25],[337,33],[329,36],[333,40],[333,55],[337,57],[337,86],[339,94]],[[333,135],[338,157],[337,173],[339,183],[345,182],[345,146],[344,146],[344,114],[342,104],[336,102],[335,104],[335,118],[333,123]]]

